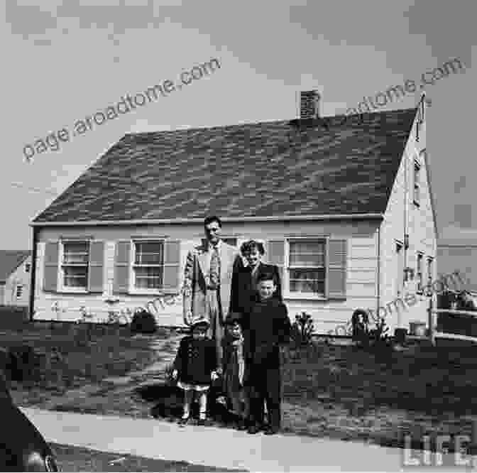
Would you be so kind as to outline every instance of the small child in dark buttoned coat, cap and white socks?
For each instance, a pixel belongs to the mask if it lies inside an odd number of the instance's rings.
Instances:
[[[207,392],[211,381],[218,378],[217,356],[214,342],[207,338],[209,321],[200,319],[192,323],[192,336],[180,341],[175,357],[172,378],[184,390],[184,413],[180,425],[189,420],[194,392],[199,397],[199,425],[205,425]]]

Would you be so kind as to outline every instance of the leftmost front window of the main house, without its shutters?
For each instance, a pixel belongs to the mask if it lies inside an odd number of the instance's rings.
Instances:
[[[89,241],[63,241],[63,288],[88,287]]]

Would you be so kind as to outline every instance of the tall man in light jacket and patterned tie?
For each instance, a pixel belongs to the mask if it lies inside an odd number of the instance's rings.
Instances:
[[[224,321],[229,313],[231,279],[234,268],[241,266],[238,250],[220,238],[219,217],[204,219],[206,240],[187,254],[184,271],[184,322],[205,317],[209,320],[208,336],[216,344],[221,366]]]

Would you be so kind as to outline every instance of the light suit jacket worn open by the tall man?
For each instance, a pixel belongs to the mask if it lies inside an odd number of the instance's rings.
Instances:
[[[208,242],[203,241],[187,254],[184,270],[184,304],[183,315],[186,325],[199,317],[208,317],[206,313],[206,277],[209,273],[211,250]],[[220,303],[221,322],[229,313],[231,279],[234,268],[242,266],[242,260],[235,246],[221,241],[219,244],[220,258]],[[192,314],[192,317],[191,315]],[[192,319],[192,320],[191,320]]]

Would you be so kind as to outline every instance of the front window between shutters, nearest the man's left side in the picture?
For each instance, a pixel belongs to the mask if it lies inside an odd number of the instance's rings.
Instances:
[[[133,248],[133,288],[163,288],[164,242],[134,241]]]

